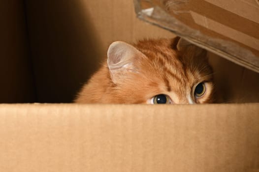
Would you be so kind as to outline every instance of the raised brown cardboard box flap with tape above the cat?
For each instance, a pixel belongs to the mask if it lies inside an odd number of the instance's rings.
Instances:
[[[139,18],[259,72],[257,0],[134,0]]]

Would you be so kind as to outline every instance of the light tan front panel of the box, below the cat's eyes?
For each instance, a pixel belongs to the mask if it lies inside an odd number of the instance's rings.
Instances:
[[[259,104],[0,105],[1,172],[252,172]]]

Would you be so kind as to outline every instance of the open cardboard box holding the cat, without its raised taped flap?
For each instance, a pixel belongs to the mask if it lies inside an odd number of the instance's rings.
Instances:
[[[173,37],[133,1],[0,2],[0,172],[259,171],[259,74],[211,54],[224,102],[77,105],[115,40]],[[254,30],[254,29],[252,29]]]

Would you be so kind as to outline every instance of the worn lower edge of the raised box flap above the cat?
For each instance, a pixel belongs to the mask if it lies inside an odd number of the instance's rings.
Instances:
[[[159,26],[163,29],[170,30],[176,35],[189,40],[197,46],[211,51],[221,57],[225,57],[226,59],[250,70],[259,72],[258,57],[250,50],[224,39],[217,39],[210,36],[201,35],[199,30],[190,28],[165,11],[165,9],[161,7],[162,3],[160,1],[154,0],[152,12],[148,11],[147,13],[145,13],[146,9],[141,9],[141,2],[141,0],[134,0],[135,12],[139,19]],[[185,12],[189,13],[189,11]]]

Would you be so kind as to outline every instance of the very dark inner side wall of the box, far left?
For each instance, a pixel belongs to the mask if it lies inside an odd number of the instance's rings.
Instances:
[[[35,101],[24,14],[22,0],[0,1],[0,103]]]

